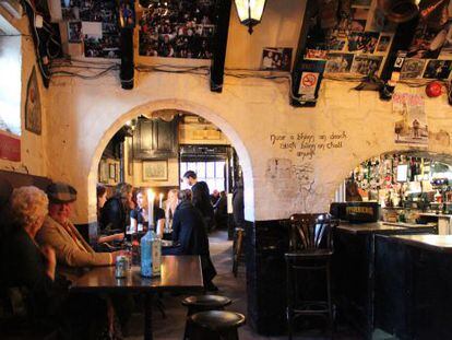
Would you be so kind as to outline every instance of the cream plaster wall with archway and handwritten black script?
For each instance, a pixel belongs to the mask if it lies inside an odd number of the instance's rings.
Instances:
[[[399,117],[392,113],[392,103],[381,102],[374,92],[350,91],[353,85],[324,82],[316,108],[293,108],[287,84],[267,80],[226,78],[222,94],[210,92],[204,78],[188,74],[141,73],[133,91],[121,90],[114,78],[58,80],[50,91],[48,150],[53,161],[49,173],[78,187],[76,222],[94,221],[97,162],[107,141],[142,113],[183,109],[214,122],[237,149],[243,161],[247,219],[324,211],[359,162],[406,149],[394,143]],[[396,91],[424,94],[423,89],[397,86]],[[433,132],[429,151],[451,153],[449,138],[437,140],[435,134],[443,130],[448,136],[452,128],[445,96],[426,98],[426,112]],[[322,134],[325,140],[320,139]],[[273,143],[281,136],[308,143],[313,137],[324,150],[310,155],[308,148],[297,155],[289,143],[285,149],[279,141]]]

